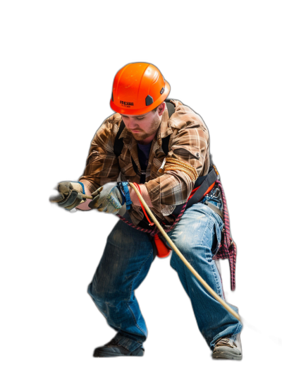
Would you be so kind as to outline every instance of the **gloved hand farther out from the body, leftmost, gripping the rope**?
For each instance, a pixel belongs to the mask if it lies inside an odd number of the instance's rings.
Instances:
[[[60,182],[52,189],[49,202],[56,203],[57,206],[66,210],[72,210],[86,200],[82,198],[82,194],[85,194],[82,182]]]

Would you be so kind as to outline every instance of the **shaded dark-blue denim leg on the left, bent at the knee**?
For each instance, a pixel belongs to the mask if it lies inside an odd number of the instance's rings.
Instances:
[[[132,352],[147,339],[145,319],[135,290],[147,277],[153,261],[149,237],[118,220],[106,239],[102,257],[88,286],[108,325]]]

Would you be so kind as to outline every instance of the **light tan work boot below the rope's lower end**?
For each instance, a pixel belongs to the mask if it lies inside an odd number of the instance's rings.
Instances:
[[[219,338],[214,346],[212,353],[213,361],[241,361],[242,347],[240,343],[240,333],[230,337]]]

